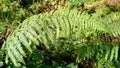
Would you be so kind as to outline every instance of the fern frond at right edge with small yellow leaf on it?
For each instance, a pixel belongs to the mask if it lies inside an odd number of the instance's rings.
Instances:
[[[107,15],[104,19],[103,19],[106,23],[106,27],[107,27],[107,32],[111,35],[111,36],[119,36],[120,35],[120,13],[119,12],[114,12],[111,13],[109,15]]]

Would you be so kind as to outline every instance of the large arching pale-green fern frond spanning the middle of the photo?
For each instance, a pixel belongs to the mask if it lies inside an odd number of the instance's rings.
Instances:
[[[57,49],[58,39],[68,38],[69,40],[77,40],[77,45],[81,48],[79,42],[84,36],[89,36],[95,32],[110,34],[111,32],[108,31],[109,29],[106,26],[107,24],[101,23],[101,19],[90,16],[85,12],[77,9],[59,8],[49,13],[34,15],[23,21],[8,36],[2,50],[6,54],[6,63],[12,61],[16,67],[19,67],[20,63],[25,64],[23,57],[27,57],[26,53],[32,53],[36,46],[44,44],[43,46],[46,49]],[[116,33],[116,36],[120,31],[114,33]],[[118,48],[116,49],[114,48],[112,51],[113,54],[118,51]],[[113,57],[112,55],[111,60]],[[77,57],[77,61],[79,60],[80,55]]]

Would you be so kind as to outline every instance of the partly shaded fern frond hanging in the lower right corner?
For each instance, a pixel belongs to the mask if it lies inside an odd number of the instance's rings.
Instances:
[[[113,66],[113,61],[118,60],[118,45],[111,45],[111,43],[99,39],[95,42],[86,41],[83,44],[81,42],[79,46],[77,63],[92,60],[96,62],[97,68],[104,68],[107,67],[106,65]]]

